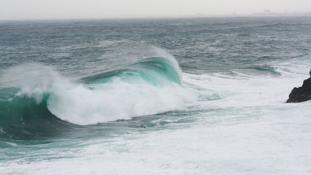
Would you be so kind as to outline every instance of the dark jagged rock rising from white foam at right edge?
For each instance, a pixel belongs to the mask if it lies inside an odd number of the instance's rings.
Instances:
[[[286,103],[300,103],[308,100],[311,100],[311,78],[304,80],[301,87],[293,88]]]

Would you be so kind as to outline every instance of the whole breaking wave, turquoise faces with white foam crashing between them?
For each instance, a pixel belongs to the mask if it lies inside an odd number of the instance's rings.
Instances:
[[[181,88],[180,70],[165,57],[147,58],[78,82],[70,86],[56,80],[20,86],[15,82],[16,87],[0,89],[0,139],[51,137],[80,127],[77,124],[130,119],[182,106],[182,98],[174,94]],[[97,113],[91,114],[94,111]],[[87,119],[105,115],[110,118],[91,122]],[[76,116],[80,118],[72,119]]]

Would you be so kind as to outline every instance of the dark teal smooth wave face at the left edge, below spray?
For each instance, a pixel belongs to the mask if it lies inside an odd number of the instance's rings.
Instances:
[[[0,140],[32,140],[55,136],[73,124],[54,116],[47,108],[50,94],[41,102],[16,96],[19,88],[0,89]],[[0,142],[1,143],[1,142]],[[3,146],[0,144],[0,147]]]

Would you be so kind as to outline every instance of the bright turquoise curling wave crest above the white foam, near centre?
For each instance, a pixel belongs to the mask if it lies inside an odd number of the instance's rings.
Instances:
[[[115,79],[127,83],[148,83],[164,86],[168,83],[181,85],[181,77],[173,63],[165,57],[151,57],[123,66],[121,69],[82,78],[84,84],[104,84]]]

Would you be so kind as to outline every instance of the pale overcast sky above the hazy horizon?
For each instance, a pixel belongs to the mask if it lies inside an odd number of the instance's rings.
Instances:
[[[311,0],[0,0],[0,20],[311,11]]]

